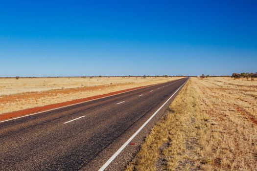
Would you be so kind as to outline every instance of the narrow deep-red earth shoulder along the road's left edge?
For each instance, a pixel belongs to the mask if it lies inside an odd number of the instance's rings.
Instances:
[[[3,113],[3,114],[0,114],[0,121],[15,118],[15,117],[20,117],[20,116],[24,116],[24,115],[28,115],[28,114],[32,114],[32,113],[36,113],[36,112],[43,112],[43,111],[58,108],[58,107],[65,107],[65,106],[68,106],[68,105],[74,105],[74,104],[77,104],[77,103],[86,102],[86,101],[98,99],[98,98],[101,98],[101,97],[107,97],[107,96],[110,96],[110,95],[115,95],[115,94],[118,94],[118,93],[123,93],[123,92],[126,92],[126,91],[139,89],[139,88],[143,88],[143,87],[147,87],[147,86],[151,86],[151,85],[124,89],[124,90],[115,91],[115,92],[111,92],[111,93],[107,93],[107,94],[101,94],[101,95],[96,95],[96,96],[92,96],[92,97],[76,99],[76,100],[72,100],[72,101],[68,101],[68,102],[46,105],[46,106],[43,106],[43,107],[33,107],[33,108],[18,110],[18,111],[14,111],[14,112]]]

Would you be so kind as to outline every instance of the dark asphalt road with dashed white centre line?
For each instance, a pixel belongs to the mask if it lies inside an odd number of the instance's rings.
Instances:
[[[187,79],[2,122],[0,171],[98,170]],[[124,169],[136,151],[125,148],[106,170]]]

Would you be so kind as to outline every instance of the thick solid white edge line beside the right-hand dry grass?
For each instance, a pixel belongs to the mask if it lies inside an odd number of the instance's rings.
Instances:
[[[185,85],[187,83],[187,81],[183,84]],[[174,94],[176,94],[176,92],[183,86],[181,85],[171,96],[170,98],[160,107],[158,108],[154,114],[147,119],[147,121],[112,155],[111,158],[109,158],[109,160],[107,160],[107,162],[98,170],[98,171],[104,171],[109,165],[110,163],[112,163],[112,161],[117,157],[117,155],[129,144],[129,142],[140,132],[140,130],[142,128],[144,128],[146,126],[146,124],[156,115],[156,113],[158,113],[161,108],[164,107],[164,105],[174,96]]]

